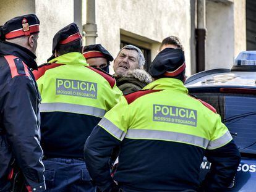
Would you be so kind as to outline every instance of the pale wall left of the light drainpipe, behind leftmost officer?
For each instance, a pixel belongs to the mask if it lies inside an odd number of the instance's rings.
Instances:
[[[65,3],[64,3],[65,2]],[[18,15],[36,14],[40,20],[40,34],[36,50],[38,65],[51,56],[54,34],[74,22],[74,0],[1,0],[0,25]]]

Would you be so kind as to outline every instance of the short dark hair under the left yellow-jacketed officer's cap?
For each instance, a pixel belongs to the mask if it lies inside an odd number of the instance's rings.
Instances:
[[[82,40],[72,41],[67,44],[58,45],[56,48],[58,54],[64,55],[69,52],[81,52],[82,53]]]

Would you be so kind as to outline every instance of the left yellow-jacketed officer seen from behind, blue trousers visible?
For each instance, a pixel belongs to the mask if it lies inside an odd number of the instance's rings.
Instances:
[[[121,98],[108,73],[90,67],[79,28],[71,23],[53,38],[55,58],[34,70],[41,93],[41,135],[49,191],[95,191],[83,161],[93,128]]]

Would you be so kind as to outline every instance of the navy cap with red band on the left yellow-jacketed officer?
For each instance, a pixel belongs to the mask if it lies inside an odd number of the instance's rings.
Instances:
[[[53,37],[53,53],[59,45],[67,44],[73,41],[81,40],[79,27],[75,23],[70,23],[66,27],[59,30]]]

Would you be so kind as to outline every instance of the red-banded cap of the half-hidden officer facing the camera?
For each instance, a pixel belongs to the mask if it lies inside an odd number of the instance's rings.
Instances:
[[[104,57],[108,62],[114,60],[111,54],[105,48],[103,48],[101,44],[90,44],[85,46],[83,48],[83,56],[85,59],[90,59],[93,57]]]

